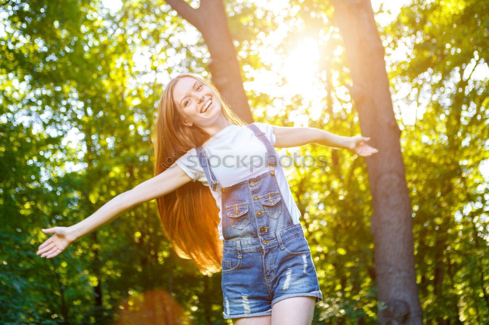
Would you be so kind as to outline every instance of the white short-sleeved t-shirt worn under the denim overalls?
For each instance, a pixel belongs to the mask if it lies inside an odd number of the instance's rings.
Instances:
[[[274,145],[275,135],[272,125],[260,122],[254,124],[265,132],[270,143]],[[216,190],[211,191],[211,193],[219,207],[219,218],[221,218],[218,226],[219,238],[224,239],[222,237],[221,186],[228,187],[266,172],[269,169],[266,160],[267,148],[249,127],[235,124],[228,125],[216,133],[202,145],[202,148],[207,154],[209,165],[219,183]],[[280,192],[292,216],[293,223],[299,223],[300,210],[290,192],[289,183],[287,183],[284,170],[280,165],[277,150],[274,149],[274,152],[279,163],[275,168],[275,177]],[[194,182],[199,181],[205,186],[209,186],[204,170],[200,166],[196,148],[187,151],[178,158],[176,163]]]

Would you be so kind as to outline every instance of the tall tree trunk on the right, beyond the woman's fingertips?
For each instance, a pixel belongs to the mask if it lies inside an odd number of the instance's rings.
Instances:
[[[381,324],[422,324],[414,268],[411,204],[400,151],[400,129],[392,109],[384,48],[368,0],[333,0],[351,70],[351,95],[364,136],[379,152],[366,158],[374,213]]]

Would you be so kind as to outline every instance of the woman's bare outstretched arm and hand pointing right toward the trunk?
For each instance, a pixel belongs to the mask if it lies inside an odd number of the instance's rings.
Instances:
[[[275,135],[274,146],[277,148],[298,147],[315,142],[333,148],[350,149],[360,156],[370,156],[378,152],[377,149],[365,143],[370,140],[369,137],[344,137],[314,127],[273,125],[273,134]]]

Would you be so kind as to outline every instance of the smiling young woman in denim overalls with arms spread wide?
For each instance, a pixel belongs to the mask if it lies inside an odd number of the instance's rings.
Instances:
[[[369,156],[377,149],[367,140],[316,128],[246,125],[212,84],[179,75],[158,104],[156,176],[80,223],[43,229],[53,236],[37,254],[52,258],[123,212],[157,199],[178,254],[202,272],[222,269],[225,319],[238,325],[311,324],[322,295],[300,211],[273,147],[316,142]]]

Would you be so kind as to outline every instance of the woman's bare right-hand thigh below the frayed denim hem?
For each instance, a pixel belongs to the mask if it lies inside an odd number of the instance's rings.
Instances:
[[[311,325],[315,297],[292,297],[272,306],[271,325]]]

